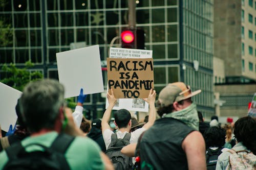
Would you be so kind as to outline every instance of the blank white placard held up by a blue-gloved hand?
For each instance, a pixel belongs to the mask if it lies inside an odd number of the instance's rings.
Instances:
[[[56,53],[59,82],[65,87],[65,98],[104,91],[99,45]]]

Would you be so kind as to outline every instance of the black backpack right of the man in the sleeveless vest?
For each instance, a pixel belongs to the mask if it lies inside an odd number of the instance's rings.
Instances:
[[[215,170],[216,169],[216,164],[218,161],[218,156],[222,153],[223,148],[218,148],[217,150],[211,150],[207,149],[206,153],[206,165],[207,165],[207,170]]]

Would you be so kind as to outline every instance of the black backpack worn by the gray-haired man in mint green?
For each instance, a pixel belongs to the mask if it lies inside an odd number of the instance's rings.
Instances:
[[[59,134],[53,141],[50,148],[39,143],[30,143],[25,147],[20,142],[13,144],[6,149],[9,161],[4,166],[7,169],[70,169],[69,164],[64,156],[66,150],[74,137]],[[25,148],[36,145],[44,149],[44,151],[26,152]]]

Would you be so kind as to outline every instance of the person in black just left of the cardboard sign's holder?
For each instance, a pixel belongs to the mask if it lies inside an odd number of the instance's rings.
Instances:
[[[99,118],[93,119],[92,129],[87,134],[87,136],[99,144],[99,147],[102,152],[106,151],[105,143],[104,143],[102,132],[101,132],[101,120]]]

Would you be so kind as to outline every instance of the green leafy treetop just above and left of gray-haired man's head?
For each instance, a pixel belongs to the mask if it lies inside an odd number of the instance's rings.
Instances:
[[[15,64],[7,66],[4,64],[2,70],[6,72],[7,77],[1,80],[2,83],[22,91],[24,86],[30,81],[42,79],[40,71],[29,71],[28,68],[33,67],[31,61],[27,61],[24,68],[17,68]]]

